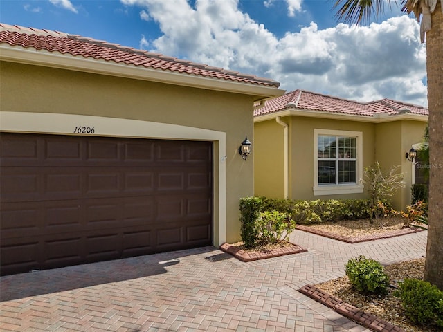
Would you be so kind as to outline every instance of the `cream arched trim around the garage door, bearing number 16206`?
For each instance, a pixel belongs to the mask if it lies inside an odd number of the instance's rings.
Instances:
[[[107,136],[129,138],[158,138],[174,140],[206,140],[218,142],[218,157],[214,166],[219,169],[218,181],[218,239],[215,246],[226,242],[226,133],[195,127],[179,126],[142,120],[105,118],[60,113],[0,112],[0,131],[15,133],[50,133],[75,136],[75,127],[94,128],[94,133],[82,136]],[[218,162],[217,162],[218,159]],[[217,185],[215,185],[217,187]],[[217,210],[217,209],[215,209]],[[214,234],[215,235],[215,234]]]

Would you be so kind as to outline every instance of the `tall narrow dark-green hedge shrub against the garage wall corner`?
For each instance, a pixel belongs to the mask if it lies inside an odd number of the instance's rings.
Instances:
[[[260,217],[262,199],[260,197],[245,197],[240,199],[241,237],[246,248],[253,248],[257,243],[257,225]]]

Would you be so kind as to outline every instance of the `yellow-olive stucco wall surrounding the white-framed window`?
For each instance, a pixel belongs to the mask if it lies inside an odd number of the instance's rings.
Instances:
[[[363,169],[379,161],[382,169],[400,165],[404,172],[404,189],[392,197],[397,210],[410,204],[412,163],[405,158],[410,147],[421,142],[426,122],[398,120],[389,122],[363,122],[291,116],[283,118],[289,124],[289,198],[313,199],[363,199],[368,192],[358,194],[333,194],[314,196],[314,129],[358,131],[363,133]],[[391,119],[392,120],[392,119]],[[283,198],[283,127],[275,119],[255,122],[255,194]],[[264,141],[266,138],[266,142]],[[269,158],[268,158],[269,157]],[[270,174],[273,169],[272,174]],[[363,178],[363,173],[358,174]]]

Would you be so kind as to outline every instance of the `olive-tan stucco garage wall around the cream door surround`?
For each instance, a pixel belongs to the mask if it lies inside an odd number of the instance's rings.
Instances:
[[[10,62],[2,62],[0,70],[1,111],[143,120],[226,133],[226,158],[219,159],[215,144],[215,244],[220,163],[226,165],[226,241],[239,240],[238,201],[253,194],[253,160],[244,162],[237,151],[245,135],[254,144],[251,96]],[[152,136],[147,132],[146,137]]]

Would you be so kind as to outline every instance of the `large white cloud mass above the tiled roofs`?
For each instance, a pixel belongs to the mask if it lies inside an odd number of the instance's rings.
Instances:
[[[165,55],[271,77],[282,89],[353,100],[392,98],[426,104],[426,50],[417,21],[405,15],[381,24],[315,23],[281,38],[253,21],[237,0],[121,0],[140,6],[163,35],[141,46]],[[271,0],[273,1],[273,0]],[[268,1],[269,2],[269,1]],[[287,1],[296,4],[301,1]]]

